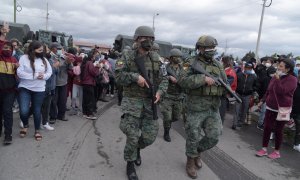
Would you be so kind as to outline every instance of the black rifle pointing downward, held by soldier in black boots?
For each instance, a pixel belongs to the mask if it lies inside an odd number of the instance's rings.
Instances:
[[[143,78],[146,80],[147,84],[149,85],[149,90],[150,90],[150,95],[151,95],[151,106],[152,106],[152,115],[153,115],[153,120],[157,120],[157,105],[154,103],[156,101],[156,88],[154,84],[151,83],[149,76],[147,74],[146,68],[145,68],[145,58],[146,55],[143,56],[138,56],[136,55],[134,62]],[[152,70],[153,72],[153,70]],[[154,74],[152,73],[152,76]]]

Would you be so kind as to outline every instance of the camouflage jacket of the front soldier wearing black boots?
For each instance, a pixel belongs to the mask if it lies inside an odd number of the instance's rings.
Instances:
[[[149,88],[137,84],[140,72],[135,64],[137,51],[126,51],[116,62],[116,83],[123,86],[122,111],[140,117],[143,108],[151,109]],[[149,52],[145,58],[145,69],[156,92],[163,96],[168,87],[168,79],[160,72],[161,62],[155,52]]]

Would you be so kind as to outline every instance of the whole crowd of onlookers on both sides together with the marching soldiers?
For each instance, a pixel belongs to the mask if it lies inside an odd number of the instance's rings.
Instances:
[[[32,41],[22,47],[16,39],[7,41],[6,33],[7,29],[1,28],[0,135],[4,126],[4,144],[12,143],[13,112],[19,111],[20,137],[27,135],[32,116],[34,138],[40,141],[40,129],[54,130],[57,120],[68,121],[68,97],[69,115],[82,113],[83,118],[95,120],[97,101],[107,102],[106,97],[114,97],[118,87],[124,113],[120,129],[127,136],[124,159],[128,178],[137,179],[134,165],[141,165],[140,151],[156,139],[158,122],[153,121],[157,119],[153,111],[158,102],[165,141],[171,142],[172,122],[184,121],[186,171],[196,178],[196,170],[202,167],[201,153],[217,144],[226,110],[232,103],[224,87],[199,72],[196,67],[200,65],[226,82],[242,100],[234,103],[233,130],[247,124],[249,108],[257,104],[257,128],[263,130],[262,149],[257,156],[280,158],[283,128],[291,121],[296,130],[294,149],[300,152],[300,59],[279,56],[234,62],[224,56],[216,61],[217,41],[211,36],[199,38],[195,57],[184,60],[179,49],[172,49],[170,57],[163,59],[157,53],[158,44],[153,44],[154,32],[147,26],[136,29],[133,47],[126,48],[118,60],[100,52],[97,46],[87,54],[57,42],[48,46]],[[155,91],[152,85],[156,85]],[[272,134],[275,149],[268,154]]]

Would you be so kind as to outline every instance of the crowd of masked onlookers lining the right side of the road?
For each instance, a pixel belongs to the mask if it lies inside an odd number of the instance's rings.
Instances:
[[[232,90],[242,99],[242,103],[235,103],[235,115],[232,129],[242,128],[248,124],[249,108],[255,103],[259,117],[257,128],[263,130],[262,149],[257,156],[268,155],[269,158],[280,158],[279,149],[283,141],[283,129],[286,124],[295,129],[294,149],[300,152],[299,145],[299,86],[300,60],[288,58],[284,55],[263,57],[260,64],[254,58],[242,63],[234,61],[228,65],[227,57],[221,62],[226,70],[228,82]],[[221,105],[220,112],[226,110],[226,104]],[[283,117],[279,117],[281,115]],[[221,113],[224,117],[224,114]],[[270,139],[275,140],[275,150],[267,153]]]

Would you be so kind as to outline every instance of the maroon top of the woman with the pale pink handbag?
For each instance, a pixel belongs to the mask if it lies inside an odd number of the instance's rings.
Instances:
[[[297,78],[293,75],[286,75],[280,79],[273,77],[264,97],[266,105],[275,110],[278,110],[278,105],[280,107],[292,107],[296,88]]]

